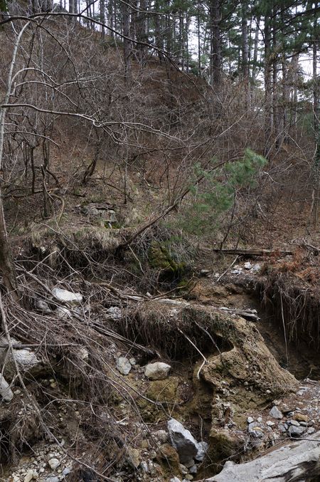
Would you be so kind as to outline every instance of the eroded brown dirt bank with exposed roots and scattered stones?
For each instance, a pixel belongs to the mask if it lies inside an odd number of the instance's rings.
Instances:
[[[297,343],[288,310],[279,323],[265,261],[247,263],[218,283],[217,266],[198,266],[179,298],[24,271],[33,305],[4,303],[14,356],[4,338],[1,480],[203,480],[314,434],[316,340]],[[159,362],[169,368],[150,375]],[[171,419],[203,456],[183,458]]]

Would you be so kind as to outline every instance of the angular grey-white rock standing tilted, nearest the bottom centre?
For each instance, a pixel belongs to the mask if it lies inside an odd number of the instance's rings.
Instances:
[[[198,442],[190,431],[176,419],[168,421],[169,436],[171,444],[178,452],[181,463],[190,461],[198,454]]]

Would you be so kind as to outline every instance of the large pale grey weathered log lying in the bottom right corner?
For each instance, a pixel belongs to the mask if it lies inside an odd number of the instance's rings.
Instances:
[[[235,464],[227,461],[223,470],[216,476],[205,479],[206,482],[285,482],[288,476],[307,480],[312,474],[313,480],[319,477],[317,462],[320,457],[320,432],[317,432],[317,441],[289,441],[279,449],[270,451],[259,458]],[[317,467],[317,471],[316,471]]]

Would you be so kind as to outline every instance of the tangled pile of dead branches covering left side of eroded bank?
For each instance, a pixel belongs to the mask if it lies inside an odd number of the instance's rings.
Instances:
[[[114,466],[125,463],[128,447],[139,436],[134,425],[118,423],[121,404],[128,404],[136,419],[139,412],[134,402],[137,390],[116,370],[116,353],[152,352],[112,328],[115,320],[105,306],[114,305],[117,298],[124,313],[126,309],[117,290],[82,283],[85,305],[67,308],[50,296],[46,278],[21,268],[20,272],[25,303],[1,296],[1,374],[8,378],[14,398],[0,416],[0,461],[16,461],[18,451],[43,437],[56,442],[63,438],[72,447],[68,456],[73,461],[82,465],[80,454],[85,452],[93,473],[103,470],[100,480],[110,480]],[[58,280],[51,284],[54,281]],[[75,283],[77,288],[79,284]],[[71,285],[63,281],[63,287]],[[40,308],[38,300],[46,308]],[[38,364],[23,370],[15,362],[16,354],[30,348]],[[21,395],[16,396],[18,392]],[[61,410],[73,419],[73,429],[60,418]]]

